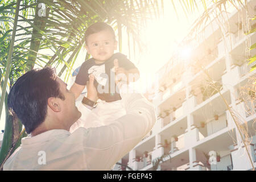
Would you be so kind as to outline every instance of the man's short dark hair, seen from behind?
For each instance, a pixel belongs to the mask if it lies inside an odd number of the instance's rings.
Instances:
[[[17,115],[28,134],[46,119],[49,97],[65,99],[54,68],[33,69],[19,77],[11,88],[9,111]]]

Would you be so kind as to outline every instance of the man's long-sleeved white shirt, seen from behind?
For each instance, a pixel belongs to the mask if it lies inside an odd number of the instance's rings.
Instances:
[[[122,100],[127,114],[111,125],[80,127],[72,134],[66,130],[49,130],[23,138],[3,170],[110,170],[156,121],[154,106],[141,94],[129,94]],[[82,118],[90,112],[83,105],[80,111]]]

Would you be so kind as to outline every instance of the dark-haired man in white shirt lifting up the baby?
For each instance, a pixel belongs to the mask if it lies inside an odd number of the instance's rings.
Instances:
[[[96,99],[94,77],[88,98]],[[138,144],[155,123],[154,107],[141,94],[122,96],[127,114],[108,126],[69,128],[89,106],[75,106],[75,96],[52,68],[32,70],[11,88],[8,105],[31,137],[23,138],[4,170],[110,170]]]

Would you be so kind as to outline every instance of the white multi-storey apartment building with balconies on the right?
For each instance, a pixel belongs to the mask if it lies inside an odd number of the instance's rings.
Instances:
[[[197,39],[185,42],[192,49],[189,56],[174,53],[159,70],[159,92],[152,100],[158,114],[155,126],[119,160],[123,166],[116,164],[113,170],[129,170],[125,166],[141,171],[256,167],[255,86],[254,91],[248,89],[256,72],[250,72],[245,51],[249,40],[255,43],[256,33],[248,39],[242,22],[246,15],[256,14],[256,1],[248,1],[247,7],[248,14],[243,9],[228,13],[229,23],[224,23],[222,31],[217,18],[213,19]],[[251,23],[255,27],[256,20]],[[250,51],[251,56],[255,54],[255,49]],[[240,134],[241,129],[246,133]],[[247,147],[241,135],[248,138]],[[209,160],[212,155],[213,161]]]

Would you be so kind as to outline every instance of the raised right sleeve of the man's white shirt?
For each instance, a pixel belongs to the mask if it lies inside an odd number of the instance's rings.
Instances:
[[[122,101],[126,115],[111,125],[91,128],[84,134],[84,156],[89,170],[110,170],[154,126],[154,106],[141,94],[129,94]]]

